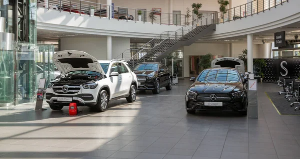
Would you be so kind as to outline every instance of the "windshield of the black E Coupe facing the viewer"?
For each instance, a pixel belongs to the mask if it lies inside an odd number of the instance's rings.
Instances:
[[[233,69],[207,69],[200,73],[197,81],[234,83],[240,79],[238,73]]]

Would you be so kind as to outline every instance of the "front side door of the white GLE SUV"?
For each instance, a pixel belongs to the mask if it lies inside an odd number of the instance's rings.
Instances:
[[[111,72],[117,72],[119,73],[117,63],[112,63],[110,66],[109,70],[109,75]],[[121,81],[122,81],[122,76],[119,74],[118,76],[109,76],[110,79],[110,99],[116,98],[120,96],[121,92]]]

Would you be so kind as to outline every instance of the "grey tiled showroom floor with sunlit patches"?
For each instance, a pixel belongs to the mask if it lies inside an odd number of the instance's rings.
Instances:
[[[300,116],[278,115],[258,85],[258,119],[233,112],[186,114],[184,93],[139,93],[132,104],[110,103],[79,116],[62,111],[35,112],[34,104],[0,108],[1,159],[300,159]],[[278,97],[283,98],[283,97]],[[282,99],[283,100],[283,99]],[[292,108],[291,108],[292,109]]]

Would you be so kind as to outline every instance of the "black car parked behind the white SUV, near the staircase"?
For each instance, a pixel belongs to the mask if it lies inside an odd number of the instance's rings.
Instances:
[[[137,90],[152,90],[153,94],[159,94],[160,88],[172,89],[172,73],[161,63],[138,63],[133,72],[137,76]]]

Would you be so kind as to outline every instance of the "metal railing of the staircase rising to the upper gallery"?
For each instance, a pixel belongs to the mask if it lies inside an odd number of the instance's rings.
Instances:
[[[195,23],[196,22],[196,23]],[[197,26],[202,26],[202,25],[209,25],[209,24],[214,24],[215,23],[215,13],[211,13],[210,15],[200,18],[200,19],[194,19],[192,23],[195,23],[193,25],[188,25],[188,26],[182,26],[176,31],[172,31],[170,35],[168,35],[166,38],[161,38],[160,35],[156,36],[146,44],[144,44],[142,47],[138,48],[138,52],[131,56],[130,59],[128,60],[129,64],[131,67],[134,67],[136,63],[139,62],[144,62],[146,60],[154,60],[159,54],[155,55],[155,52],[152,52],[152,54],[148,54],[149,50],[152,50],[154,48],[157,48],[158,46],[163,45],[164,43],[167,42],[172,42],[176,43],[179,40],[184,40],[183,36],[186,35],[187,33],[191,32],[193,29],[197,28]],[[158,42],[158,43],[155,43]],[[150,47],[148,47],[150,46]],[[154,56],[153,56],[154,55]],[[145,57],[148,57],[148,59],[145,59]]]

